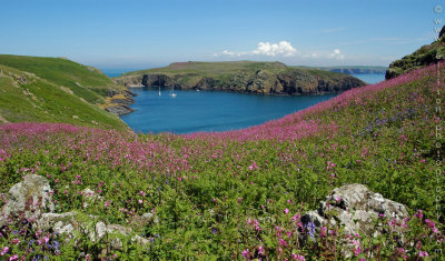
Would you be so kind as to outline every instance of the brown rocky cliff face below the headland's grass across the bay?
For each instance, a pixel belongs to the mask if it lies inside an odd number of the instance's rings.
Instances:
[[[190,80],[192,78],[192,80]],[[338,93],[364,86],[365,82],[335,73],[328,77],[308,70],[287,69],[283,71],[256,70],[224,76],[190,76],[171,73],[146,73],[141,84],[184,90],[222,90],[258,94],[323,94]]]

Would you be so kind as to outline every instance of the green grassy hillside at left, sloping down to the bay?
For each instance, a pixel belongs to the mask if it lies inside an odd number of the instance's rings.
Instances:
[[[99,70],[60,58],[0,56],[0,121],[67,122],[127,129],[99,108],[122,90]]]

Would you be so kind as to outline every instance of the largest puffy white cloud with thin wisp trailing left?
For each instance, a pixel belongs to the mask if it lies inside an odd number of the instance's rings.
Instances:
[[[215,53],[214,57],[227,56],[227,57],[241,57],[241,56],[266,56],[266,57],[294,57],[297,52],[290,42],[280,41],[278,43],[259,42],[257,49],[250,52],[233,52],[224,50],[221,53]]]

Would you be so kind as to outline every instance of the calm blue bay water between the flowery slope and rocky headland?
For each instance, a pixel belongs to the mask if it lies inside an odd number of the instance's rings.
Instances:
[[[218,91],[135,88],[131,108],[137,111],[121,119],[136,132],[190,133],[226,131],[261,124],[303,110],[335,94],[318,97],[273,97]]]

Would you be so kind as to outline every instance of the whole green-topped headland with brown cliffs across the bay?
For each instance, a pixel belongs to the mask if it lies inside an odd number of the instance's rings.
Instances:
[[[255,61],[175,62],[164,68],[127,72],[115,80],[126,87],[281,96],[339,93],[366,84],[344,73]]]

